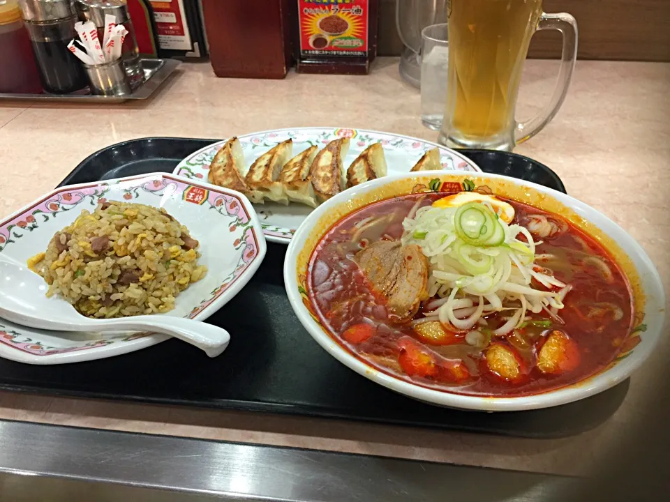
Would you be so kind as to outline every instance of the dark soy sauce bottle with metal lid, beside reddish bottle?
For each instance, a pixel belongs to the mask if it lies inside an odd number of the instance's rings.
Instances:
[[[21,0],[20,6],[44,90],[66,94],[84,89],[84,68],[68,49],[77,21],[71,0]]]

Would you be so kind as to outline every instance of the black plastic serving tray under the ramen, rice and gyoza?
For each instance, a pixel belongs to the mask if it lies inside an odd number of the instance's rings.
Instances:
[[[61,184],[156,171],[213,139],[145,138],[112,145],[78,165]],[[556,174],[534,160],[492,151],[463,151],[486,172],[562,190]],[[422,404],[359,376],[321,349],[299,324],[285,294],[286,247],[268,243],[248,285],[208,322],[232,333],[218,358],[178,340],[113,358],[34,366],[0,359],[0,388],[219,409],[268,411],[380,423],[556,437],[583,432],[616,411],[628,381],[600,395],[556,408],[479,413]]]

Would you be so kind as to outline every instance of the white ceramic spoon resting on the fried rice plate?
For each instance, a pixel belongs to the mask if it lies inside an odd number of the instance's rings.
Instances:
[[[230,335],[218,326],[184,317],[142,315],[90,319],[61,298],[47,298],[43,278],[25,265],[0,258],[0,317],[30,328],[60,331],[151,331],[170,335],[216,357]]]

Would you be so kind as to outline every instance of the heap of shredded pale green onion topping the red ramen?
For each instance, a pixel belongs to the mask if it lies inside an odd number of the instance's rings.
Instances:
[[[471,330],[482,317],[511,310],[507,322],[492,332],[501,336],[524,325],[527,311],[539,314],[563,308],[563,297],[556,287],[565,288],[566,284],[534,270],[537,243],[528,229],[508,225],[486,204],[424,206],[414,218],[405,218],[403,230],[403,245],[419,245],[429,259],[429,296],[447,298],[438,307],[440,321]],[[533,279],[546,290],[536,289]],[[477,308],[466,319],[459,319],[454,310],[459,309],[463,297]],[[548,328],[551,321],[528,324]]]

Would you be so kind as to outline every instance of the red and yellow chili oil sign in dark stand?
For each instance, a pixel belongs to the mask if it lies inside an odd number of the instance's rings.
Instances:
[[[377,55],[378,0],[297,1],[297,71],[367,74]]]

